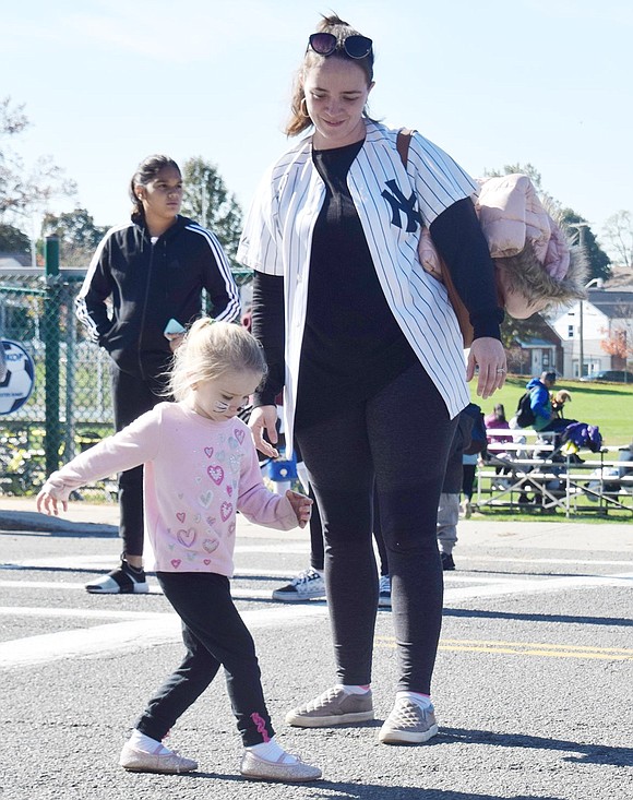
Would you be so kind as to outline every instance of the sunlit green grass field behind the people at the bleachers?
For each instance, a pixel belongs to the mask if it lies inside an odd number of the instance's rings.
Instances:
[[[482,401],[476,395],[477,380],[473,379],[469,384],[470,396],[473,403],[481,406],[483,414],[490,414],[497,403],[503,403],[505,416],[510,419],[528,381],[529,377],[509,375],[502,390]],[[565,404],[565,416],[580,422],[597,425],[605,445],[619,446],[633,442],[633,384],[560,379],[556,389],[566,389],[572,395],[572,402]]]

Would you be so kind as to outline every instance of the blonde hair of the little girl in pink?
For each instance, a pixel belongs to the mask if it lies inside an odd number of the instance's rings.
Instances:
[[[227,372],[252,372],[263,378],[266,370],[264,350],[246,327],[203,317],[191,325],[174,355],[169,393],[182,401],[203,381]]]

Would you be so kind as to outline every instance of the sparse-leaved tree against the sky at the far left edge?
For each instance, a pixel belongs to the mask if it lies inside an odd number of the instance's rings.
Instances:
[[[40,156],[26,167],[10,145],[10,140],[28,126],[23,105],[12,104],[10,97],[0,99],[0,217],[45,210],[53,198],[76,192],[74,182],[64,177],[50,156]]]

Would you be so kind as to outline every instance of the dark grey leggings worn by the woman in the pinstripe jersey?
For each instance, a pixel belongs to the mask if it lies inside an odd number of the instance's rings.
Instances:
[[[392,578],[398,689],[430,693],[442,621],[438,503],[456,420],[419,365],[377,395],[297,430],[325,537],[325,585],[337,674],[371,682],[378,574],[372,491]]]

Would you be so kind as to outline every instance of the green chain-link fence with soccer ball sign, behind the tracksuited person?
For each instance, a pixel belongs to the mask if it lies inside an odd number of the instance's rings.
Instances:
[[[51,247],[46,270],[0,267],[7,361],[0,374],[0,494],[37,493],[50,471],[114,430],[110,358],[74,315],[86,271],[60,270],[55,241]],[[243,291],[251,272],[234,275]],[[115,482],[104,489],[111,494]]]

